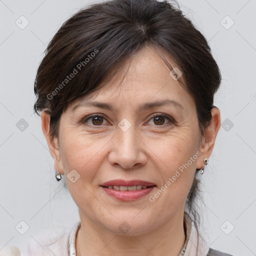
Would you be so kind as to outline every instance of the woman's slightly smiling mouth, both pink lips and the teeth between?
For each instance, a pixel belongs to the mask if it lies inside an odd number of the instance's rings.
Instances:
[[[155,184],[143,180],[110,180],[100,185],[104,192],[121,201],[132,201],[148,194]]]

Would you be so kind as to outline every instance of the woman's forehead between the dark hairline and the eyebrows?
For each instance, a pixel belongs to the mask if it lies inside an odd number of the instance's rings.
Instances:
[[[174,67],[173,63],[171,65]],[[107,101],[112,105],[127,103],[132,106],[167,99],[184,107],[193,104],[192,97],[169,73],[170,69],[156,50],[144,47],[127,60],[103,87],[99,84],[101,88],[75,100],[70,109],[86,101]]]

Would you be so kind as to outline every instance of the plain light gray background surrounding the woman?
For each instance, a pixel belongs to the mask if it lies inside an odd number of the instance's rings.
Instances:
[[[63,178],[54,178],[40,117],[33,114],[33,82],[49,40],[88,2],[0,0],[0,249],[23,244],[39,228],[78,220]],[[215,96],[222,124],[201,177],[208,246],[256,255],[256,0],[178,2],[209,41],[223,78]],[[29,22],[23,29],[22,15]],[[20,221],[29,226],[24,234]]]

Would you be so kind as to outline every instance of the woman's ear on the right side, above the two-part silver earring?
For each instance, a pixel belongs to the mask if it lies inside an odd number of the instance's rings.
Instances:
[[[197,169],[200,169],[204,165],[203,163],[204,158],[210,157],[219,128],[220,128],[220,112],[217,107],[212,107],[211,122],[204,131],[204,136],[202,138],[202,143],[199,149],[199,151],[201,152],[201,155],[197,158],[197,161],[196,161]]]

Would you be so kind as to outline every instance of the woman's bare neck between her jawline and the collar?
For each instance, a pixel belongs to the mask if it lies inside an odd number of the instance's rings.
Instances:
[[[81,217],[81,214],[80,214]],[[177,256],[185,241],[183,213],[141,235],[115,234],[83,215],[76,235],[76,256]]]

